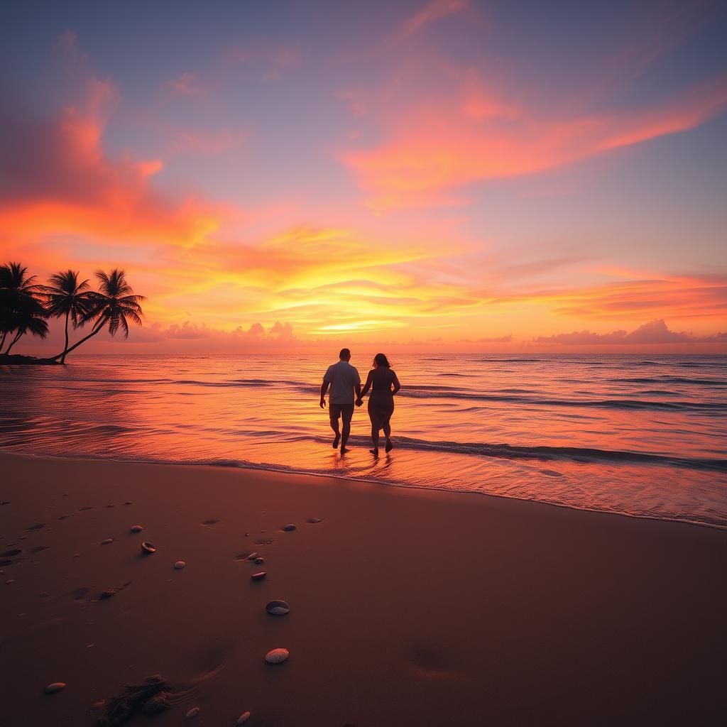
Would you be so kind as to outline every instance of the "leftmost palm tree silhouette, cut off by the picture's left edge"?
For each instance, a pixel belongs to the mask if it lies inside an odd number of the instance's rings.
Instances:
[[[4,353],[26,333],[45,338],[48,324],[43,321],[45,311],[38,300],[41,286],[34,283],[36,276],[28,276],[28,268],[20,262],[0,265],[0,351],[7,334],[16,335]]]

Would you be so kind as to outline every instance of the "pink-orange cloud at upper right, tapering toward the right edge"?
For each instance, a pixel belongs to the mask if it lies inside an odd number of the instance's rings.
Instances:
[[[655,108],[614,113],[553,113],[515,104],[477,76],[449,69],[454,91],[406,97],[387,92],[380,145],[342,155],[372,206],[426,204],[468,182],[533,174],[606,150],[688,131],[727,105],[727,74]],[[399,79],[398,84],[411,84]],[[434,83],[433,83],[434,86]]]

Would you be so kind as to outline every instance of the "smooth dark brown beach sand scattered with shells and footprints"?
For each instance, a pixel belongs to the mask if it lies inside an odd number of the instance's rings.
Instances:
[[[157,673],[179,702],[130,724],[724,718],[727,531],[221,467],[2,453],[0,473],[4,726],[94,725]]]

